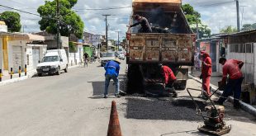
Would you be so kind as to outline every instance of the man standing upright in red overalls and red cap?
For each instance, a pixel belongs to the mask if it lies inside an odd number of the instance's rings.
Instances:
[[[206,94],[211,96],[210,90],[210,79],[211,79],[211,58],[210,55],[207,54],[205,51],[201,51],[201,75],[200,78],[202,79],[202,89],[206,91]],[[205,97],[205,96],[203,96]]]

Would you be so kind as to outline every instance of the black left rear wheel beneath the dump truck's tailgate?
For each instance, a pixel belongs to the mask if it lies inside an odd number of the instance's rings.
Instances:
[[[144,79],[142,73],[140,72],[139,65],[129,65],[128,66],[128,73],[127,73],[127,93],[134,94],[134,93],[145,93],[144,91]]]

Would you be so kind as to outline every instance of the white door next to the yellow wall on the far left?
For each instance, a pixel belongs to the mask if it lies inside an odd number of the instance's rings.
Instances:
[[[13,72],[18,73],[19,66],[22,68],[22,50],[21,46],[12,46]]]

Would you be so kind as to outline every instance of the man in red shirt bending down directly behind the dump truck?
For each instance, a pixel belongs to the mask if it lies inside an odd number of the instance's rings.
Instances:
[[[164,89],[169,89],[171,93],[173,93],[173,97],[177,97],[177,92],[173,87],[173,82],[175,82],[176,77],[174,76],[173,70],[168,68],[168,66],[164,66],[163,64],[159,64],[161,67],[161,71],[164,77]]]

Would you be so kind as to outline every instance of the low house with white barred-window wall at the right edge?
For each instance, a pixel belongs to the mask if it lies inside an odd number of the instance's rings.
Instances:
[[[220,35],[220,39],[223,40],[225,58],[226,59],[239,59],[244,62],[244,66],[241,69],[244,75],[244,85],[251,87],[250,102],[255,100],[256,85],[256,30],[247,30],[229,35]],[[222,53],[223,54],[223,53]],[[219,68],[220,71],[221,68]],[[248,88],[249,88],[248,87]]]

